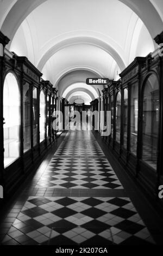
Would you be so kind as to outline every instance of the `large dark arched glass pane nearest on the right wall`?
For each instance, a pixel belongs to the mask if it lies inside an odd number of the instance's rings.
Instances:
[[[156,170],[159,126],[159,84],[151,75],[143,94],[143,154],[142,159]]]

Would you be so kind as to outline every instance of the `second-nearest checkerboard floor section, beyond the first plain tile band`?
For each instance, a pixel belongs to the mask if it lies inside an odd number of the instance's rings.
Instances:
[[[45,182],[46,180],[46,182]],[[122,189],[106,158],[53,157],[36,187]]]

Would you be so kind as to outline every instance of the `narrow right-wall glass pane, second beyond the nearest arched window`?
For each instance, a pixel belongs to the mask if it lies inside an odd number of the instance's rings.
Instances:
[[[128,90],[124,89],[123,101],[123,146],[127,148]]]

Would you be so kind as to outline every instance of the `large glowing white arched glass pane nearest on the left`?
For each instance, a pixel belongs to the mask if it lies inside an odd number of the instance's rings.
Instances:
[[[3,89],[4,168],[20,156],[20,92],[17,80],[8,73]]]

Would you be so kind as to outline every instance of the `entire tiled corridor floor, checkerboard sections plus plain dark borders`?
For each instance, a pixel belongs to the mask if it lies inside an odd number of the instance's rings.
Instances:
[[[2,245],[155,244],[90,130],[62,133],[4,216]]]

